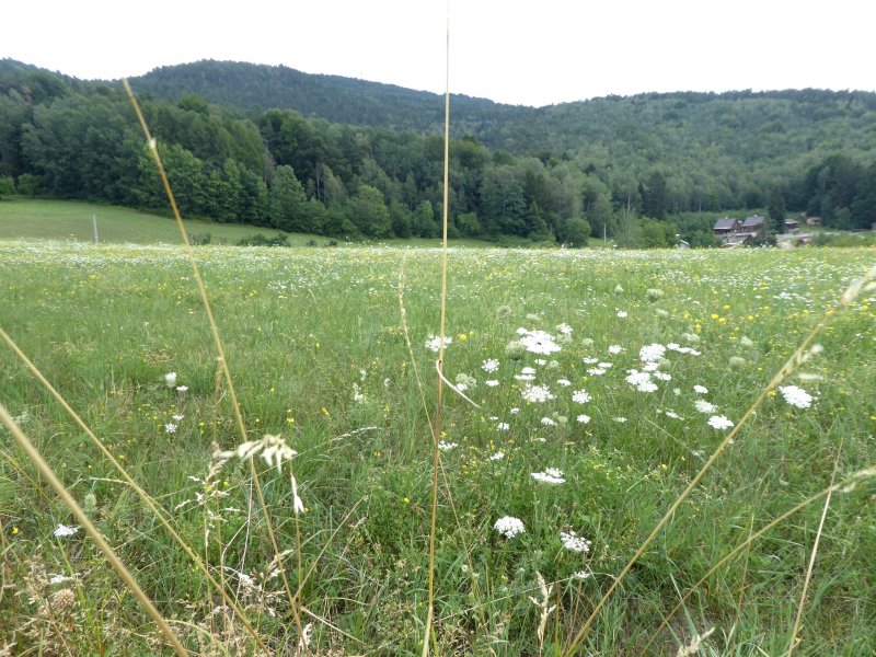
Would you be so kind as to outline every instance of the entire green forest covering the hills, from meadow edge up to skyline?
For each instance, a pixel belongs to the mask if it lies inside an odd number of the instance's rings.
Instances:
[[[326,235],[437,237],[443,99],[203,61],[131,80],[187,217]],[[716,214],[876,221],[876,94],[451,99],[451,237],[713,243]],[[166,207],[116,82],[0,60],[0,195]]]

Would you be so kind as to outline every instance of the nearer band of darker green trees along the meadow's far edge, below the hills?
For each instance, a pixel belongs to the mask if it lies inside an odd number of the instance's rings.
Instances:
[[[196,94],[175,102],[145,94],[141,103],[184,216],[332,237],[439,234],[439,135],[331,123],[291,110],[243,112]],[[635,158],[615,161],[606,146],[589,142],[577,151],[514,154],[471,135],[451,139],[450,237],[583,245],[593,232],[630,245],[664,245],[680,234],[705,244],[711,219],[682,212],[761,208],[776,195],[791,210],[821,215],[827,226],[876,220],[876,170],[850,154],[827,155],[750,188],[730,166],[721,177],[680,172],[672,159],[643,165]],[[20,194],[166,208],[119,89],[10,60],[0,61],[0,175]],[[723,186],[730,193],[721,193]]]

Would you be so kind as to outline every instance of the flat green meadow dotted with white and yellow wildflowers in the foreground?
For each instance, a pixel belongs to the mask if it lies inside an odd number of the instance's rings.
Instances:
[[[243,438],[178,246],[5,242],[0,327],[166,510],[274,654],[297,654],[299,616],[310,654],[418,655],[439,251],[205,246],[197,257],[250,440],[279,435],[297,451],[280,472],[254,460],[267,515],[249,464],[214,447]],[[445,371],[480,407],[446,390],[436,654],[568,652],[730,425],[874,260],[873,249],[452,250]],[[876,463],[875,303],[864,291],[829,318],[820,348],[782,382],[811,400],[791,388],[766,396],[574,654],[671,656],[712,629],[700,654],[876,650],[872,479],[830,499],[796,634],[823,497],[669,616],[724,555],[828,487],[834,463],[837,481]],[[256,654],[154,515],[0,349],[0,401],[186,647]],[[0,647],[170,654],[83,531],[56,535],[78,523],[2,436]],[[303,608],[285,590],[268,519]]]

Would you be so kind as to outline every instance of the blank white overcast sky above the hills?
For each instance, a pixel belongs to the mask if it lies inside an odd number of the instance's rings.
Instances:
[[[442,93],[447,0],[24,0],[0,57],[82,79],[198,59]],[[451,0],[450,90],[549,105],[609,94],[876,90],[873,0]]]

